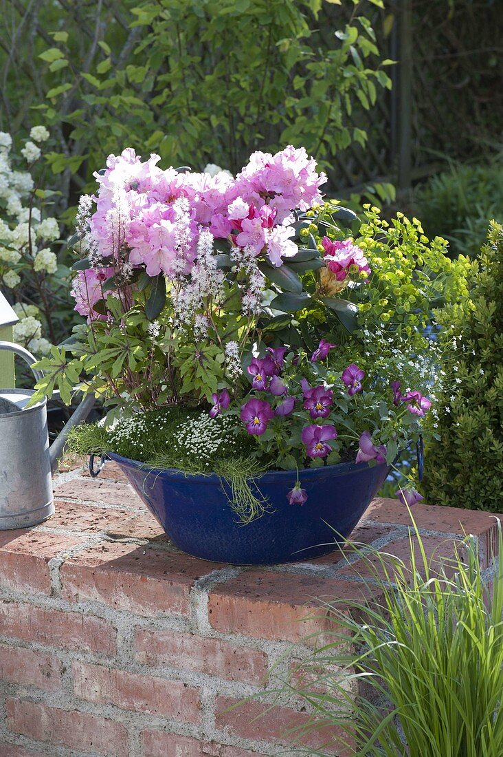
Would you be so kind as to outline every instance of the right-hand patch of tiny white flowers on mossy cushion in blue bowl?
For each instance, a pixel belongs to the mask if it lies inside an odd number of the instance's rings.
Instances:
[[[233,429],[236,421],[232,416],[210,418],[208,413],[188,419],[176,427],[176,447],[181,456],[194,456],[198,463],[210,467],[219,452],[228,455],[233,450],[238,454],[238,446]]]

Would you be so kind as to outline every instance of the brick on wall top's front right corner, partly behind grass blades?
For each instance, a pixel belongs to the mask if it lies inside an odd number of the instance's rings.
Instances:
[[[453,572],[452,559],[455,555],[455,540],[442,536],[423,536],[421,537],[424,552],[430,565],[430,572],[437,575],[441,566],[446,570],[448,575]],[[424,562],[418,547],[417,537],[412,537],[414,545],[416,567],[424,575]],[[462,549],[460,550],[462,555]],[[370,553],[362,559],[353,562],[352,565],[346,565],[340,569],[340,575],[358,576],[359,578],[376,577],[390,578],[393,580],[396,561],[402,561],[403,569],[410,570],[411,567],[411,542],[409,538],[396,539],[390,541],[383,550],[378,553]]]

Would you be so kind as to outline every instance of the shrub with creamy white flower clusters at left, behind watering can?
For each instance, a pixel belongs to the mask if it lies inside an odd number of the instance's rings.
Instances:
[[[51,248],[60,238],[57,219],[44,214],[56,193],[34,179],[48,138],[45,126],[33,126],[17,155],[11,135],[0,132],[0,288],[20,319],[14,340],[36,356],[71,329],[64,326],[70,271]]]

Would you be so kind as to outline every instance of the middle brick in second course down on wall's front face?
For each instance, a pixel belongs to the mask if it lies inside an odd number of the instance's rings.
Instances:
[[[259,684],[267,674],[267,658],[263,652],[194,634],[138,628],[133,650],[137,662],[155,668],[170,665],[249,684]]]

